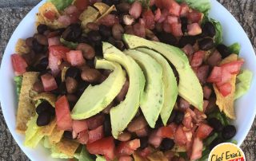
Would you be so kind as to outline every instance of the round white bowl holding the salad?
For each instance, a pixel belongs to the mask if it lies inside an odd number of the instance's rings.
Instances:
[[[34,27],[35,14],[38,12],[38,7],[42,6],[43,2],[45,2],[45,0],[35,6],[34,9],[26,15],[22,22],[20,22],[17,29],[15,29],[12,37],[10,37],[8,45],[6,46],[0,70],[0,100],[6,124],[18,143],[18,146],[22,148],[22,151],[24,151],[31,160],[37,161],[60,159],[52,159],[50,157],[50,151],[46,150],[42,145],[39,145],[36,149],[24,147],[24,135],[19,135],[15,132],[17,98],[15,92],[16,87],[13,79],[14,71],[12,69],[10,55],[14,53],[14,46],[18,41],[18,38],[26,38],[34,34],[36,30]],[[256,99],[254,98],[256,91],[256,57],[254,49],[245,31],[230,12],[215,0],[211,1],[211,5],[212,9],[210,10],[210,18],[214,18],[222,23],[225,44],[231,45],[234,42],[240,43],[242,46],[240,57],[246,60],[244,68],[250,69],[250,71],[254,73],[250,91],[235,103],[237,120],[234,121],[234,125],[237,127],[238,132],[234,136],[234,139],[238,141],[238,145],[240,146],[242,141],[246,138],[256,114]]]

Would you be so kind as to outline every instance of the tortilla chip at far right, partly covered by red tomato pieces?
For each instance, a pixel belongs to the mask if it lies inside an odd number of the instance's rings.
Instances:
[[[237,61],[238,55],[231,54],[229,57],[226,57],[222,60],[220,65],[230,63],[232,61]],[[216,94],[217,100],[216,104],[218,105],[219,110],[224,112],[227,117],[230,119],[235,119],[234,114],[234,92],[235,92],[235,82],[236,82],[237,75],[232,75],[230,84],[232,86],[231,93],[228,96],[222,96],[222,93],[218,91],[217,86],[214,84],[214,92]]]

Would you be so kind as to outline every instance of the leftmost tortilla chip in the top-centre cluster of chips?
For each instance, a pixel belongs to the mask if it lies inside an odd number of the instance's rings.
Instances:
[[[80,14],[79,19],[81,20],[82,29],[86,29],[86,25],[89,22],[95,22],[98,18],[99,12],[94,7],[88,6],[86,10]]]

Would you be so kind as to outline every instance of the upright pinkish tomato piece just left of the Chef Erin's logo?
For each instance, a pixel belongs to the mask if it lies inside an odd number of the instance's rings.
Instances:
[[[202,157],[202,147],[203,147],[202,140],[197,137],[194,138],[190,160],[196,160]]]

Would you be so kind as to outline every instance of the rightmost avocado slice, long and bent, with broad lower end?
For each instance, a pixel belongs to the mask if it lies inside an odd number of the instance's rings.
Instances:
[[[178,94],[192,104],[195,108],[202,111],[203,94],[202,86],[198,81],[198,77],[190,67],[190,63],[185,53],[181,49],[172,45],[166,45],[162,42],[148,41],[142,37],[124,34],[123,40],[130,49],[138,47],[146,47],[154,49],[161,53],[168,61],[170,61],[179,74]]]

